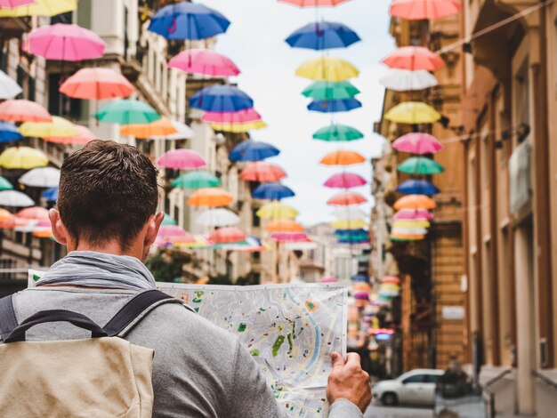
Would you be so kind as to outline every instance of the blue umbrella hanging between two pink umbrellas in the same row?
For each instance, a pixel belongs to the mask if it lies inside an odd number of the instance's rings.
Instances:
[[[191,96],[190,106],[207,112],[238,112],[253,108],[254,100],[233,85],[212,85]]]

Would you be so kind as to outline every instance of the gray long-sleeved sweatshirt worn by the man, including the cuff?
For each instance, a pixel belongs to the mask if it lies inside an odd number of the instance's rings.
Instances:
[[[35,287],[14,296],[18,322],[44,309],[69,309],[104,326],[134,291],[83,287]],[[28,341],[86,338],[69,324],[44,324],[28,332]],[[238,338],[176,304],[149,313],[125,339],[155,350],[154,417],[286,416],[265,378]],[[0,342],[1,343],[1,342]],[[359,408],[339,399],[329,418],[361,418]]]

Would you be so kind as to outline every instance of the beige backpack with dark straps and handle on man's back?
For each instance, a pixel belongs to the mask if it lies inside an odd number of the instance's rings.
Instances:
[[[150,417],[154,350],[120,337],[166,302],[180,303],[156,290],[139,293],[101,327],[62,309],[37,312],[18,325],[11,296],[0,300],[0,417]],[[61,321],[92,338],[25,341],[30,327]]]

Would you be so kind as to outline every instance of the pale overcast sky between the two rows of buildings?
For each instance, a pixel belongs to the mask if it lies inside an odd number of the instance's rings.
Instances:
[[[254,131],[254,140],[270,142],[281,150],[278,157],[269,161],[284,167],[288,174],[284,183],[295,190],[296,197],[284,202],[300,211],[298,220],[304,224],[332,220],[329,216],[332,208],[326,201],[338,190],[327,189],[323,183],[341,169],[319,165],[319,159],[339,149],[339,145],[311,138],[312,133],[329,125],[331,117],[306,109],[309,100],[301,92],[311,81],[295,76],[295,68],[304,60],[319,57],[320,52],[291,48],[284,42],[297,28],[315,21],[315,9],[299,9],[277,0],[200,0],[200,3],[222,12],[231,21],[227,33],[218,37],[216,51],[236,62],[242,74],[232,81],[237,81],[254,99],[254,108],[269,125]],[[359,77],[351,82],[361,91],[358,99],[363,107],[336,114],[335,118],[366,134],[364,140],[343,147],[365,157],[377,155],[383,141],[372,130],[383,104],[383,88],[377,79],[386,68],[379,61],[394,49],[388,33],[388,5],[388,0],[351,0],[335,8],[320,9],[325,20],[349,26],[362,39],[349,48],[328,53],[350,60],[359,68]],[[367,163],[347,171],[370,180],[371,166]],[[355,190],[369,197],[369,187]]]

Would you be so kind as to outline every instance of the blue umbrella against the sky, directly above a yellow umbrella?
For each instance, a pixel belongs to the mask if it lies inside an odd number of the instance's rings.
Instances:
[[[317,51],[333,48],[345,48],[358,42],[359,36],[342,23],[322,21],[308,23],[299,28],[286,39],[293,48],[307,48]]]

